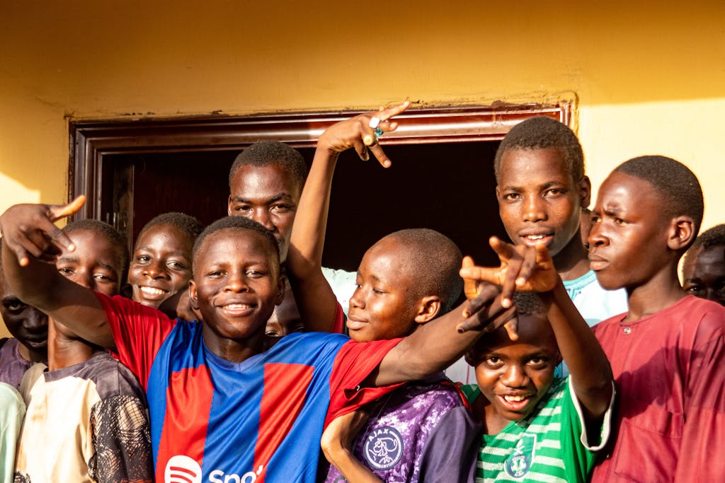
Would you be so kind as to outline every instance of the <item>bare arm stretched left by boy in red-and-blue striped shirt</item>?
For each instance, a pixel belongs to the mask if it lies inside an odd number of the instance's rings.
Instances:
[[[85,197],[67,205],[22,204],[0,217],[5,278],[20,300],[39,308],[91,343],[113,348],[101,303],[91,290],[59,274],[54,257],[75,250],[54,222],[80,209]]]

